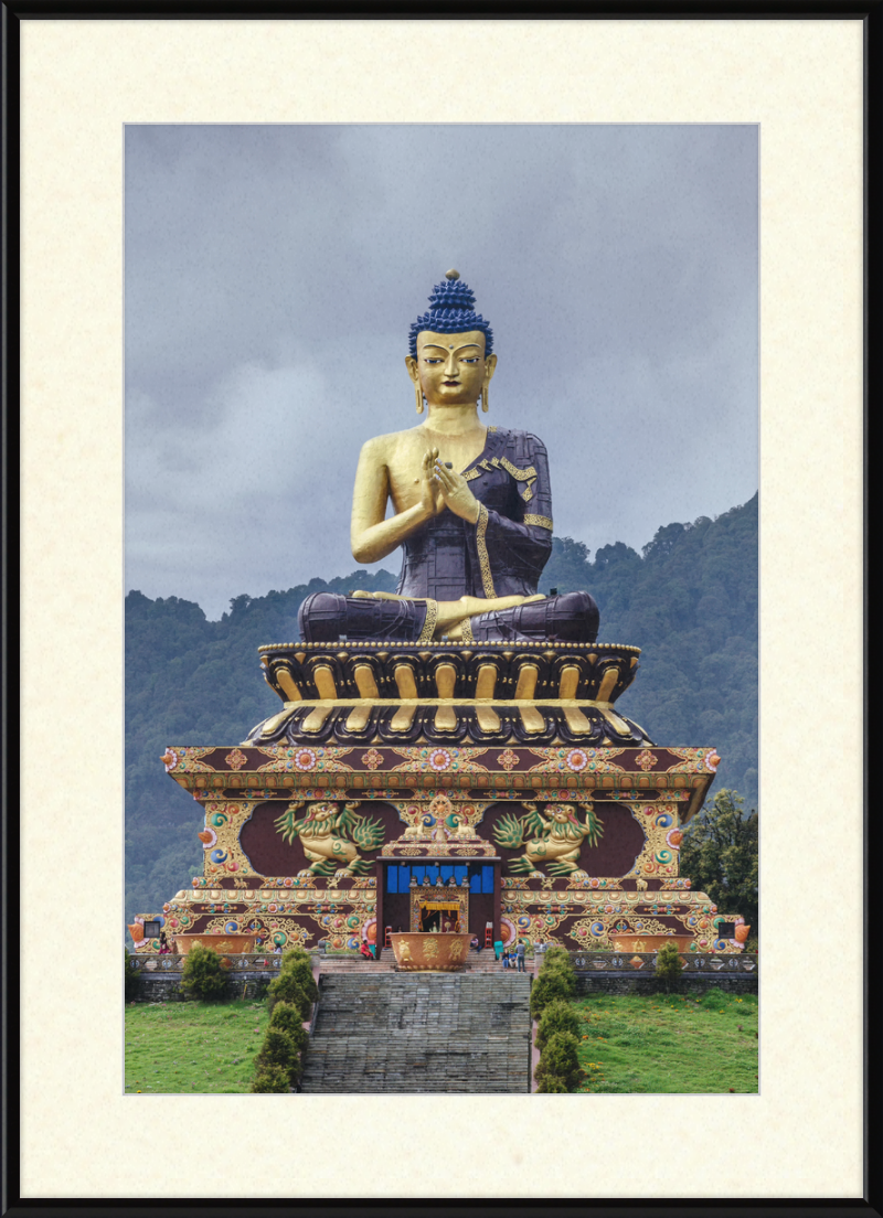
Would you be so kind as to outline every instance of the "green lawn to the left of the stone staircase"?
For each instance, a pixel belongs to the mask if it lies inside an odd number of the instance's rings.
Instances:
[[[125,1094],[248,1091],[267,1004],[136,1004],[125,1007]]]

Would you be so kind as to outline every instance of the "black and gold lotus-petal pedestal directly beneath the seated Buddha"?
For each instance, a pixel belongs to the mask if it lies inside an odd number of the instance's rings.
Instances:
[[[649,744],[614,710],[637,647],[363,642],[262,647],[284,709],[248,744]]]

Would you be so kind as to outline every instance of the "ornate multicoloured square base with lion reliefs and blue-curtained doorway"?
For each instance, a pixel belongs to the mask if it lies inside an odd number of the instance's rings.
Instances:
[[[420,929],[415,911],[432,905],[482,946],[614,952],[632,935],[738,954],[749,933],[680,875],[709,748],[375,742],[173,747],[163,760],[205,810],[203,873],[156,918],[175,937],[354,955]]]

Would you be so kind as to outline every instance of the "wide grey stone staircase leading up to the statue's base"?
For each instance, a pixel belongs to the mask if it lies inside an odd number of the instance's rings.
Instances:
[[[530,1090],[530,978],[323,968],[307,1094]]]

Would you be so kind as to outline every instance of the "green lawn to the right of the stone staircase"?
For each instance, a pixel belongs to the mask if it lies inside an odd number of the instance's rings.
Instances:
[[[758,1091],[756,994],[605,994],[575,1006],[582,1091]]]

